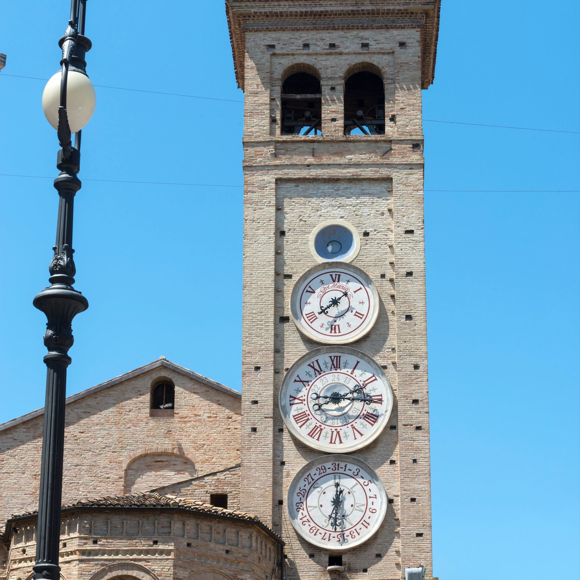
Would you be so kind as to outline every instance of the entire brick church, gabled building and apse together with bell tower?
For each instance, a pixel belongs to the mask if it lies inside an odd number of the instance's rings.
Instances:
[[[433,577],[421,90],[438,1],[228,0],[242,394],[163,357],[67,399],[66,580]],[[28,580],[43,411],[0,425]]]

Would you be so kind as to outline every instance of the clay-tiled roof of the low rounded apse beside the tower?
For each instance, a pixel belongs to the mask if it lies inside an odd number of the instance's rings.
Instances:
[[[258,516],[246,512],[237,512],[235,510],[225,509],[223,507],[215,507],[209,503],[193,501],[189,499],[179,499],[168,495],[161,495],[156,493],[144,492],[142,494],[126,494],[126,495],[109,495],[104,498],[95,499],[79,499],[74,503],[68,503],[61,506],[61,513],[72,512],[78,509],[90,510],[133,510],[133,509],[178,509],[185,510],[194,514],[200,514],[210,517],[226,518],[233,520],[244,520],[252,524],[258,525],[268,535],[274,538],[278,543],[284,545],[284,542],[275,532],[264,525]],[[3,541],[7,542],[9,539],[12,526],[17,520],[24,520],[38,515],[38,510],[26,512],[17,516],[12,516],[6,522],[6,528],[3,534]]]

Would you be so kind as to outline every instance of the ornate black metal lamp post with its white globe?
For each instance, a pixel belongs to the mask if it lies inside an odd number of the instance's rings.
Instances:
[[[42,462],[38,500],[37,552],[34,578],[59,580],[60,505],[63,489],[64,401],[68,349],[73,346],[71,322],[89,306],[73,288],[73,202],[81,189],[77,177],[81,162],[81,129],[95,110],[95,89],[85,71],[85,53],[91,43],[84,36],[86,0],[71,0],[68,27],[59,41],[63,50],[61,71],[46,85],[42,108],[57,129],[60,150],[56,166],[60,174],[54,186],[59,193],[56,245],[49,265],[50,286],[34,297],[33,304],[46,314],[44,344],[46,401],[42,432]],[[74,147],[71,133],[75,133]]]

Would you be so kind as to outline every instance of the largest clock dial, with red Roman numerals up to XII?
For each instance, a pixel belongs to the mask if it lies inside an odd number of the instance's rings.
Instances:
[[[278,397],[288,430],[327,453],[355,451],[374,441],[393,408],[383,369],[348,346],[324,346],[300,357]]]

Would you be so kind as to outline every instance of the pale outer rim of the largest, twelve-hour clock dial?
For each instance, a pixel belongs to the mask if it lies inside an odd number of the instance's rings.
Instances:
[[[299,429],[293,425],[291,421],[291,414],[286,412],[287,404],[285,401],[285,393],[287,391],[287,386],[289,385],[289,380],[293,375],[294,369],[297,367],[301,367],[305,361],[310,360],[310,358],[316,358],[317,356],[322,356],[323,354],[332,353],[336,350],[340,350],[343,353],[348,354],[349,356],[355,356],[360,359],[363,359],[371,368],[375,371],[375,375],[378,379],[383,380],[383,384],[386,385],[386,394],[387,398],[389,398],[389,405],[388,411],[387,407],[385,407],[385,414],[383,415],[382,425],[376,427],[375,432],[368,437],[368,439],[364,441],[360,441],[360,443],[353,443],[348,447],[345,445],[343,449],[340,449],[342,454],[351,453],[353,451],[358,451],[358,449],[362,449],[367,447],[376,440],[377,437],[385,430],[387,423],[389,423],[389,419],[391,418],[391,414],[393,412],[394,406],[394,392],[393,387],[391,386],[391,382],[389,377],[387,377],[385,371],[380,367],[378,362],[375,361],[374,358],[369,356],[367,353],[362,352],[362,350],[354,349],[351,346],[341,346],[332,345],[332,346],[321,346],[317,349],[309,350],[307,353],[303,354],[292,366],[288,369],[284,378],[282,379],[282,384],[280,385],[280,389],[278,390],[278,409],[280,409],[280,415],[282,420],[284,421],[284,425],[287,427],[289,433],[291,433],[292,437],[298,439],[300,443],[306,445],[310,449],[316,449],[316,451],[322,451],[324,453],[329,453],[336,451],[335,447],[329,448],[329,443],[320,443],[320,441],[315,441],[310,437],[307,437],[303,434]],[[386,404],[386,402],[385,402]],[[310,440],[309,440],[310,439]]]

